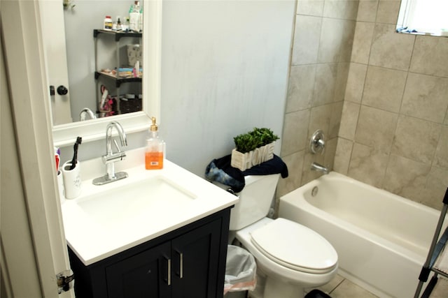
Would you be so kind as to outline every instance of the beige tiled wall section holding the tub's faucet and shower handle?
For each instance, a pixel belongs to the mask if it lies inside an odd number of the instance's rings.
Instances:
[[[332,167],[356,29],[358,1],[297,1],[281,157],[289,177],[277,197],[317,178],[313,161]],[[309,138],[325,133],[323,155],[309,152]]]

